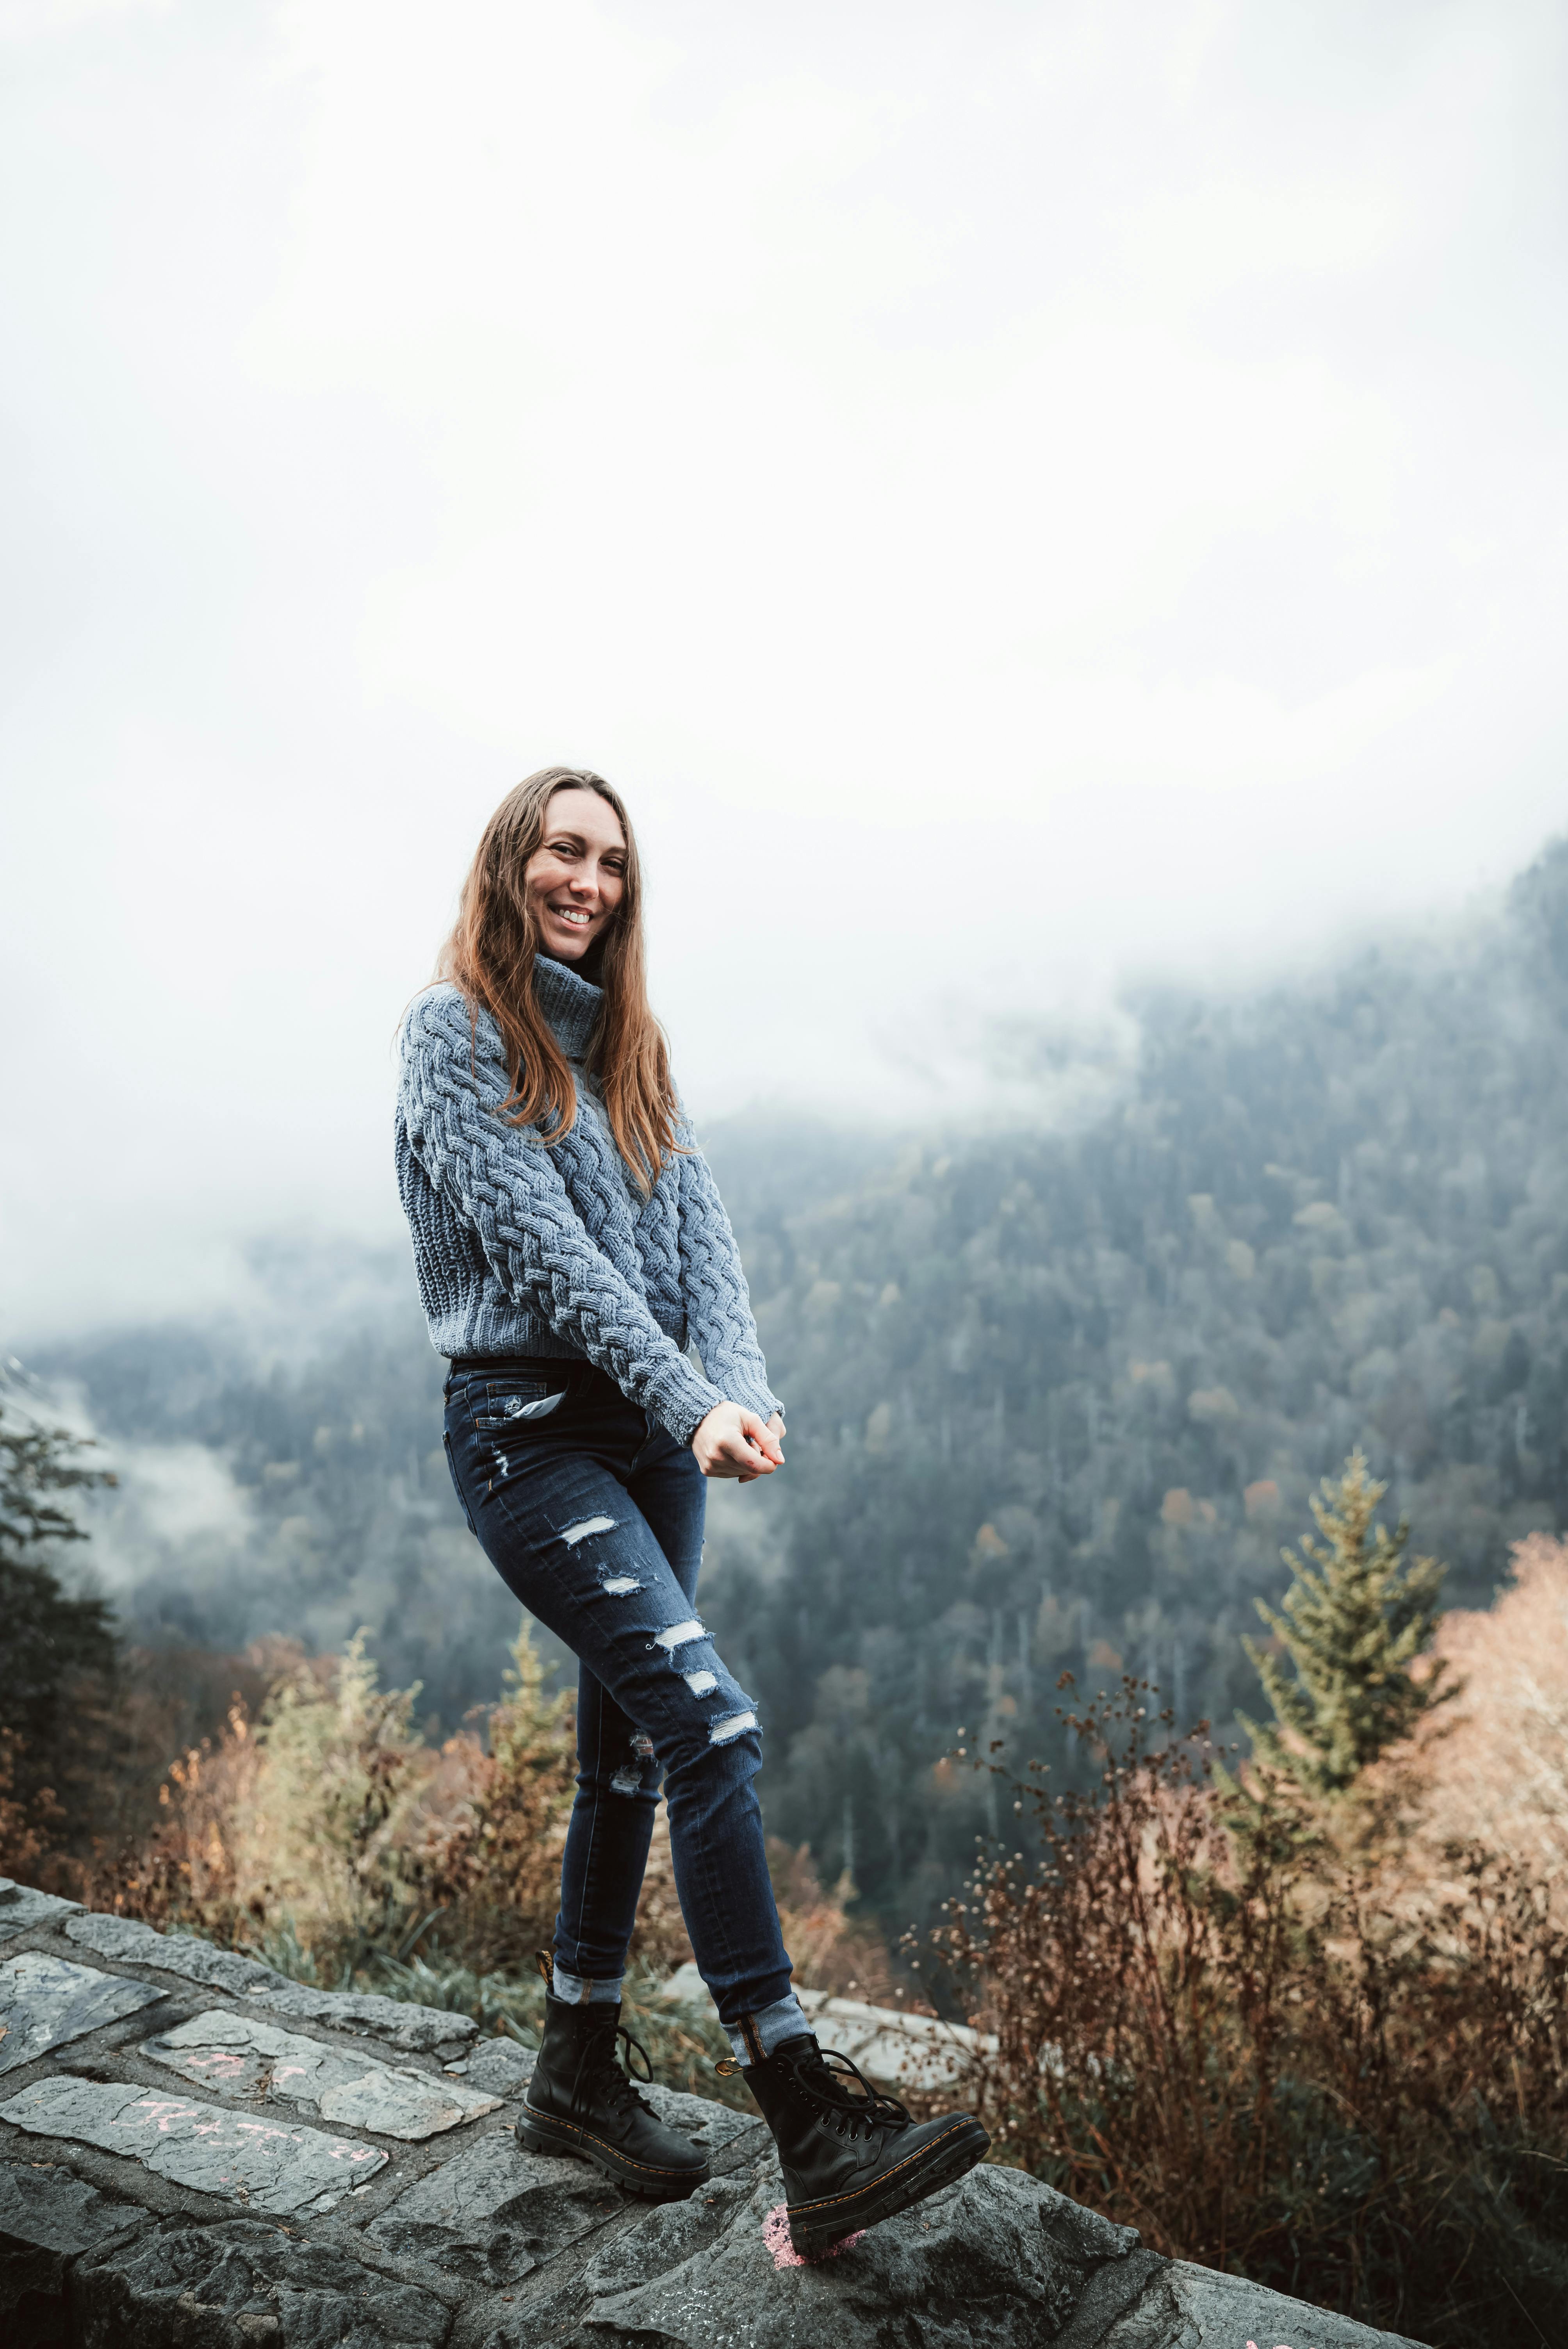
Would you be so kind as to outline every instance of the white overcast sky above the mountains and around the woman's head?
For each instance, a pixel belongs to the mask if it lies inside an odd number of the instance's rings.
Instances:
[[[1462,918],[1568,822],[1566,61],[0,0],[0,1334],[399,1229],[390,1034],[545,761],[641,817],[707,1113]]]

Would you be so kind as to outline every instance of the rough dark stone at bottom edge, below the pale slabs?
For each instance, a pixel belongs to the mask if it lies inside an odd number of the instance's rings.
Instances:
[[[73,2302],[80,2349],[437,2349],[451,2326],[432,2293],[246,2217],[99,2253]]]

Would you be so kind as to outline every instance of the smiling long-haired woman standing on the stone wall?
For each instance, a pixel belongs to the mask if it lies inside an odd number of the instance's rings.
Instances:
[[[580,1661],[577,1797],[519,2138],[657,2199],[709,2175],[617,2060],[662,1781],[697,1966],[777,2138],[796,2248],[824,2248],[934,2194],[988,2140],[967,2114],[918,2126],[824,2060],[791,1990],[756,1703],[695,1611],[702,1480],[777,1475],[784,1409],[648,1010],[636,841],[599,775],[545,768],[486,824],[441,982],[404,1024],[397,1177],[451,1358],[458,1499]]]

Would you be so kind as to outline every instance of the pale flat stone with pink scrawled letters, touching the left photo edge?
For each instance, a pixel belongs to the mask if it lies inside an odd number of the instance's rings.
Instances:
[[[282,2217],[333,2208],[387,2159],[354,2138],[96,2079],[42,2079],[0,2105],[0,2121],[35,2138],[127,2154],[174,2185]]]

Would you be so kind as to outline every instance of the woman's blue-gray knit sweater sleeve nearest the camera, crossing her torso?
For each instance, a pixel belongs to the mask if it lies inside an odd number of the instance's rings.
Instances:
[[[594,1245],[535,1130],[498,1116],[507,1071],[488,1022],[474,1034],[460,996],[420,996],[404,1022],[399,1090],[411,1151],[474,1226],[507,1294],[690,1442],[725,1398]]]

